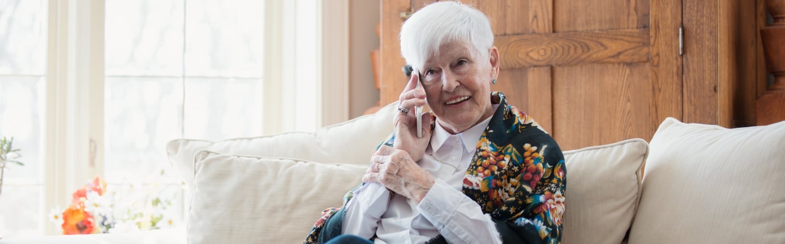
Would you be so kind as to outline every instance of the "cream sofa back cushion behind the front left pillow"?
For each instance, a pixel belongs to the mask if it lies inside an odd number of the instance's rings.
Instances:
[[[206,149],[231,154],[286,157],[321,163],[367,165],[376,146],[392,133],[395,104],[377,113],[357,117],[316,132],[290,132],[254,138],[232,138],[218,142],[177,139],[166,144],[170,163],[189,188],[193,181],[194,155]]]

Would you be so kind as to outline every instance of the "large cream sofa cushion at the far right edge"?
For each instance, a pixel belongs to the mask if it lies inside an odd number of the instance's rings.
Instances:
[[[630,243],[785,243],[785,121],[655,132]]]

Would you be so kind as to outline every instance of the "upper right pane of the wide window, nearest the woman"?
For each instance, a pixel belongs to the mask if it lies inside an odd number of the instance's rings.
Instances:
[[[261,77],[264,1],[189,0],[186,11],[187,76]]]

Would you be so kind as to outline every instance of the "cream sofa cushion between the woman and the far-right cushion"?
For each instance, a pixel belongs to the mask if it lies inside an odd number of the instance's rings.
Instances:
[[[641,197],[648,144],[635,138],[564,152],[564,243],[621,243]]]

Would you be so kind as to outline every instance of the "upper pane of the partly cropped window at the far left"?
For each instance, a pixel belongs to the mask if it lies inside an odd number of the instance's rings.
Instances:
[[[0,74],[43,75],[46,1],[0,1]]]

